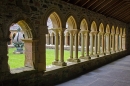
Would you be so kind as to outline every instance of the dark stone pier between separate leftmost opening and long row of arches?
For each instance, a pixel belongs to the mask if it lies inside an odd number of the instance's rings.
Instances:
[[[46,70],[46,34],[48,34],[47,26],[40,26],[38,29],[38,42],[36,47],[35,55],[35,69],[38,71]]]

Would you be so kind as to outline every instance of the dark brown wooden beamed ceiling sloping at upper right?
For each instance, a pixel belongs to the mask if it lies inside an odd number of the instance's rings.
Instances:
[[[130,23],[130,0],[62,0],[107,17]]]

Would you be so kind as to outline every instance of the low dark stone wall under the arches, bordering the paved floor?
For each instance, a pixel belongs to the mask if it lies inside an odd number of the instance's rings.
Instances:
[[[56,69],[51,70],[48,69],[46,72],[32,70],[15,74],[1,73],[0,86],[53,86],[54,84],[75,78],[111,61],[120,59],[126,54],[127,52],[123,51],[112,55],[94,58],[89,61],[82,61],[78,64],[70,64],[67,67],[57,67]]]

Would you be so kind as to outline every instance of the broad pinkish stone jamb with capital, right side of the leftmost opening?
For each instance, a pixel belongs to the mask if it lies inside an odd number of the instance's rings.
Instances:
[[[25,46],[25,67],[35,68],[36,64],[36,53],[37,53],[37,42],[38,40],[32,39],[22,39],[24,41]]]

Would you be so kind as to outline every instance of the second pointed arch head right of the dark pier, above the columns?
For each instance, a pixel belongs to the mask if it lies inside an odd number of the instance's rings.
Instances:
[[[68,24],[68,29],[77,29],[77,23],[73,16],[68,17],[66,24]]]

